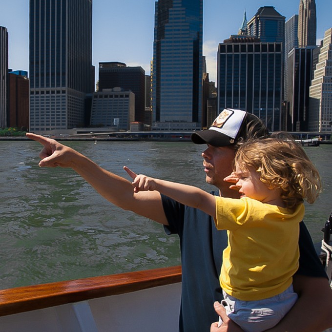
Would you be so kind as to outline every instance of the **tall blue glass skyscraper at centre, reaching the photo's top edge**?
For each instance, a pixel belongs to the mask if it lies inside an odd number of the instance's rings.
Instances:
[[[199,129],[202,118],[203,0],[155,4],[153,129]]]

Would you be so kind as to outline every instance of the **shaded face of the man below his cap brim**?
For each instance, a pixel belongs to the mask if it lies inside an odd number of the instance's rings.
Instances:
[[[226,196],[226,191],[229,190],[229,184],[224,182],[224,178],[233,171],[232,163],[235,152],[229,146],[217,147],[212,145],[207,145],[207,149],[202,152],[206,182],[218,187],[224,196]],[[234,193],[237,194],[236,191]]]

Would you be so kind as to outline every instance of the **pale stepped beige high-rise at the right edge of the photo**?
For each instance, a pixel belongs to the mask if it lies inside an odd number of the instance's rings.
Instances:
[[[309,100],[309,130],[331,131],[332,122],[332,28],[325,31],[313,74]]]

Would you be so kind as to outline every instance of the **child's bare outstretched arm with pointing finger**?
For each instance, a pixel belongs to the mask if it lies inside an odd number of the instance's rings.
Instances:
[[[134,192],[157,190],[181,204],[198,208],[213,218],[216,217],[215,197],[206,191],[193,186],[150,178],[143,174],[137,175],[126,166],[124,169],[133,179]]]

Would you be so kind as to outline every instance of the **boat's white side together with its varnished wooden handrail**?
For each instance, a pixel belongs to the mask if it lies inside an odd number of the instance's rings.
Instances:
[[[0,332],[175,332],[181,267],[0,290]]]

